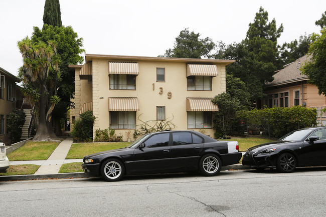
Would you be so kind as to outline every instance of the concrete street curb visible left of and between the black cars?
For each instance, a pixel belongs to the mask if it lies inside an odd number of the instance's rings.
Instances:
[[[250,169],[248,166],[243,166],[242,164],[234,164],[229,166],[222,166],[223,170],[240,170],[240,169]],[[43,179],[64,179],[64,178],[91,178],[97,177],[89,175],[84,172],[72,172],[72,173],[57,173],[57,174],[40,174],[40,175],[4,175],[0,176],[1,181],[27,181],[27,180],[43,180]]]

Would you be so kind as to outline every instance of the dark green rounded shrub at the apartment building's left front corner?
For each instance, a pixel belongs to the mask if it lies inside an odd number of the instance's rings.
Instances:
[[[92,111],[86,111],[80,115],[80,119],[75,120],[71,135],[77,141],[92,141],[93,140],[93,125],[95,116]]]

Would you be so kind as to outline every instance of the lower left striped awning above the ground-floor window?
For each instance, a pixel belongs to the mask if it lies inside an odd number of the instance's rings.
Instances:
[[[109,97],[109,111],[139,111],[137,97]]]

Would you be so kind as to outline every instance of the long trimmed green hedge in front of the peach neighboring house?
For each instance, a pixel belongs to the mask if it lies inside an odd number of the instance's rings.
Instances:
[[[314,108],[294,106],[240,111],[237,116],[248,128],[261,127],[266,135],[281,137],[292,130],[317,125],[316,115]]]

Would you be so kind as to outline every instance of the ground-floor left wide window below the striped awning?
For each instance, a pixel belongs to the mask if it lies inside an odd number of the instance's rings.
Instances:
[[[136,112],[110,112],[111,129],[136,129]]]

